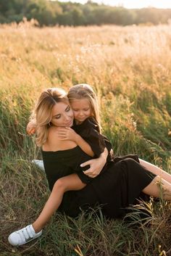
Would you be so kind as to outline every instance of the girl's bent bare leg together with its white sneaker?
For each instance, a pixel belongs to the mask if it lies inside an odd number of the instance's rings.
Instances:
[[[71,174],[70,176],[59,178],[59,180],[54,184],[50,197],[37,220],[33,225],[28,225],[25,228],[14,231],[10,234],[8,237],[9,244],[20,246],[41,236],[42,228],[46,225],[48,220],[51,218],[51,215],[53,215],[55,210],[57,210],[61,204],[64,192],[80,190],[83,189],[84,186],[86,186],[86,184],[80,180],[77,174]]]

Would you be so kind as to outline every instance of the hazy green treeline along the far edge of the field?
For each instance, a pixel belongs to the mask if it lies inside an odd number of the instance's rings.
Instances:
[[[171,9],[125,9],[88,1],[86,4],[51,0],[0,0],[0,23],[20,22],[23,17],[43,25],[154,25],[171,20]]]

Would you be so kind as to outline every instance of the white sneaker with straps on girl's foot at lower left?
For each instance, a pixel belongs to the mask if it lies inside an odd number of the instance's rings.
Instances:
[[[20,246],[22,244],[28,243],[33,239],[38,238],[38,236],[41,236],[41,234],[42,230],[38,233],[35,233],[33,226],[28,225],[25,228],[22,228],[10,234],[8,237],[8,241],[9,244],[12,244],[14,246]]]

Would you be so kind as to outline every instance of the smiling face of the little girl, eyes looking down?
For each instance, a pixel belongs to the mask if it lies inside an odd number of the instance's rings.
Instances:
[[[71,107],[77,124],[83,123],[84,120],[91,117],[91,105],[88,99],[72,99]]]

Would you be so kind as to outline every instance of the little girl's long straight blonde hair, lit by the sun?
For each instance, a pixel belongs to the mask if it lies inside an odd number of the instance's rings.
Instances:
[[[101,131],[99,105],[93,88],[86,83],[77,84],[70,88],[67,97],[71,104],[74,99],[88,99],[91,106],[91,115],[95,118],[99,125],[99,131]]]

